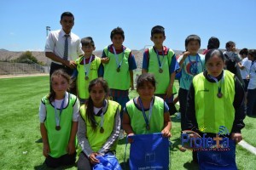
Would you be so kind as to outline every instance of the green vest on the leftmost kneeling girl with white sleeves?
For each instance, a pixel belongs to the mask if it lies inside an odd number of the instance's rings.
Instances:
[[[55,130],[55,106],[51,105],[46,96],[42,99],[42,103],[46,107],[46,119],[44,126],[46,127],[49,149],[49,156],[58,158],[67,154],[67,144],[70,138],[71,127],[73,122],[73,105],[76,103],[77,97],[73,94],[68,94],[68,105],[63,108],[61,113],[59,131]],[[57,110],[59,113],[59,109]]]

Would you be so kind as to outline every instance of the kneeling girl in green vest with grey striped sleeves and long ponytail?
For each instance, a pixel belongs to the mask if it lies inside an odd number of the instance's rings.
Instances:
[[[82,148],[78,169],[84,170],[100,163],[96,156],[113,156],[120,133],[121,106],[107,99],[108,83],[102,77],[92,80],[89,94],[88,101],[80,107],[78,130]]]

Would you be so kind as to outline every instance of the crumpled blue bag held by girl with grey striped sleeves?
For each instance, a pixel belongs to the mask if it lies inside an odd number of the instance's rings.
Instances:
[[[93,170],[122,170],[119,161],[113,155],[96,156],[100,163],[95,164]]]

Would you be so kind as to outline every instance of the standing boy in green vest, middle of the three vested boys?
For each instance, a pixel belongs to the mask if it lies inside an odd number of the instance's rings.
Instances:
[[[133,70],[137,69],[137,64],[131,49],[123,45],[125,33],[122,28],[114,28],[110,38],[113,43],[104,48],[102,53],[102,58],[109,59],[108,64],[102,64],[102,75],[110,88],[109,97],[122,106],[120,113],[122,120],[123,109],[126,102],[130,100],[129,88],[134,89]],[[119,139],[123,138],[124,131],[121,129]]]

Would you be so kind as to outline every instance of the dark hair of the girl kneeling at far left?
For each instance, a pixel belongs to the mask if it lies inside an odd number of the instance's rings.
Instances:
[[[50,76],[50,86],[52,86],[52,81],[54,77],[63,77],[67,80],[67,83],[69,85],[70,88],[70,84],[71,84],[71,77],[67,74],[67,72],[63,71],[62,69],[56,70],[52,73],[52,75]],[[55,100],[55,91],[53,89],[51,89],[51,91],[49,92],[47,99],[49,99],[50,102],[53,102]]]

